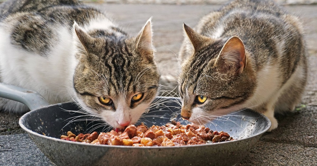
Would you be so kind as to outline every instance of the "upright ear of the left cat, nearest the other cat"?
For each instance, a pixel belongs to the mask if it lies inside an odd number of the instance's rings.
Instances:
[[[153,52],[155,52],[155,48],[152,42],[152,17],[147,20],[144,27],[139,32],[139,35],[136,38],[136,50],[139,51],[142,57],[145,59],[152,61],[153,60]]]

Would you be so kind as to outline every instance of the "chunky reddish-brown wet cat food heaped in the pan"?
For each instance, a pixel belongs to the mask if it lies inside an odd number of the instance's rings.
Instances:
[[[182,125],[173,121],[164,126],[147,127],[144,124],[126,127],[124,131],[80,133],[77,136],[71,131],[61,139],[84,144],[125,145],[125,146],[183,146],[216,143],[234,140],[227,132],[212,131],[208,127],[194,124]]]

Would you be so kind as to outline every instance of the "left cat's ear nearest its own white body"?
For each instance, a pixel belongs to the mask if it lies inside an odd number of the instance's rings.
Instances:
[[[88,35],[83,29],[81,29],[76,22],[73,25],[74,29],[74,39],[77,41],[77,47],[81,49],[81,51],[89,51],[95,45],[94,38]]]

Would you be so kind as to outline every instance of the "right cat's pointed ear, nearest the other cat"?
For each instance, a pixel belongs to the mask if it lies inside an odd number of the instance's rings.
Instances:
[[[187,39],[187,46],[186,50],[188,52],[194,52],[195,50],[198,50],[204,44],[208,41],[210,41],[210,38],[200,35],[197,32],[194,31],[194,29],[191,29],[188,25],[185,23],[183,24],[184,27],[184,37]]]

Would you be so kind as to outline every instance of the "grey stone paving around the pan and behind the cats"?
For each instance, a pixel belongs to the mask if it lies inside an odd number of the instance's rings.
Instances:
[[[107,11],[131,35],[136,35],[153,16],[155,60],[162,74],[177,74],[177,52],[182,23],[193,27],[199,18],[219,5],[89,4]],[[277,115],[279,126],[265,133],[258,144],[238,164],[245,165],[317,165],[317,6],[294,5],[285,8],[305,24],[309,49],[307,91],[296,111]],[[53,165],[30,141],[18,125],[20,115],[0,112],[0,165]],[[26,150],[27,149],[27,150]]]

